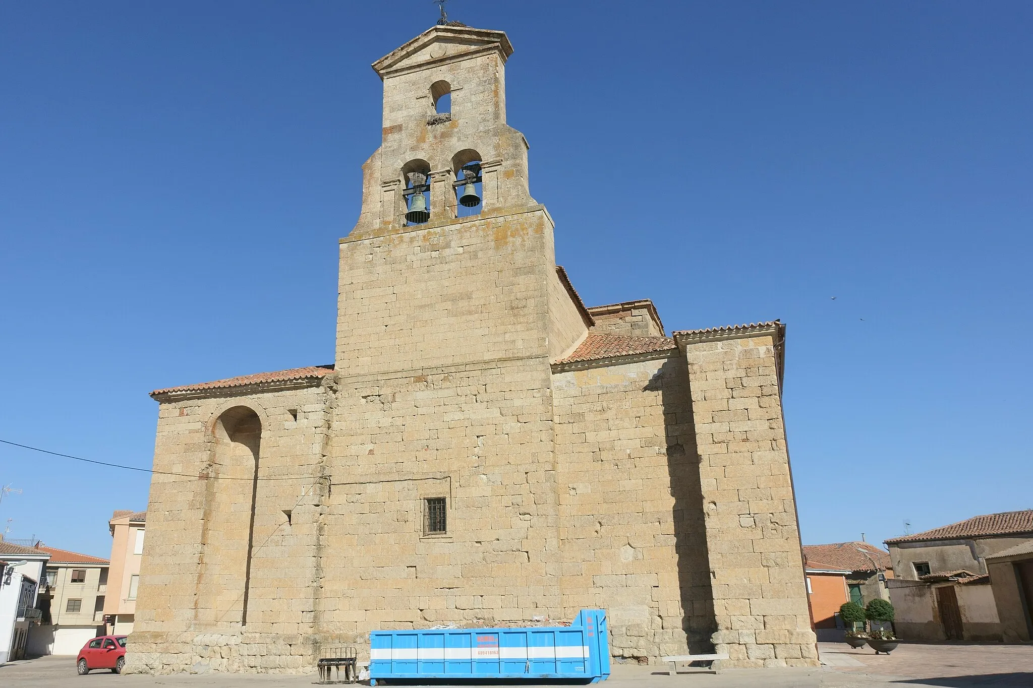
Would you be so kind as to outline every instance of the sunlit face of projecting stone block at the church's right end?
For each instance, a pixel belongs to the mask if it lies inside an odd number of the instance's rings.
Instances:
[[[773,336],[685,346],[718,652],[817,665]]]

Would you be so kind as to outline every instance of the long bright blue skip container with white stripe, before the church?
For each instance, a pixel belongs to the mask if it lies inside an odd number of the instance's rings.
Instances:
[[[418,679],[580,679],[609,677],[603,610],[582,610],[569,626],[375,630],[370,685]]]

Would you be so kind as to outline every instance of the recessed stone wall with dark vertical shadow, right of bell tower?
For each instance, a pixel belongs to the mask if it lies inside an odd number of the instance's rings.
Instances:
[[[684,360],[559,372],[553,389],[565,617],[606,609],[616,656],[710,651]]]

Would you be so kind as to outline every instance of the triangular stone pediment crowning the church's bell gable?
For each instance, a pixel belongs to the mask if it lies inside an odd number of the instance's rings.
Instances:
[[[373,69],[383,78],[387,73],[491,50],[497,51],[503,62],[512,54],[512,45],[504,31],[439,25],[374,62]]]

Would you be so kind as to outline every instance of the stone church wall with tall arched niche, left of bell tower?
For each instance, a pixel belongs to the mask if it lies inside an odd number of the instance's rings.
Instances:
[[[155,470],[210,478],[152,478],[127,671],[290,670],[311,663],[325,394],[312,387],[159,406]],[[253,462],[221,453],[215,436],[216,420],[241,405],[257,413],[262,430],[246,626]],[[295,478],[264,480],[285,477]],[[245,509],[245,518],[219,504]],[[289,524],[283,510],[291,512]]]

